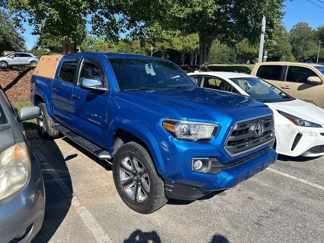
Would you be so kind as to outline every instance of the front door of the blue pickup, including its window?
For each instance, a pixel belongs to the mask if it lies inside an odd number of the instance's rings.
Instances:
[[[85,88],[83,79],[100,80],[105,90]],[[106,115],[110,92],[104,68],[95,58],[84,58],[72,92],[73,129],[89,140],[106,147]]]

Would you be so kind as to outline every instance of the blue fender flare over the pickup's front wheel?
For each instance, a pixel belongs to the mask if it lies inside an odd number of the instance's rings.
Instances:
[[[152,154],[157,173],[159,175],[166,174],[166,167],[154,135],[146,127],[135,123],[132,120],[125,119],[123,117],[114,117],[114,119],[112,120],[110,128],[108,130],[108,144],[110,154],[113,150],[112,146],[114,142],[115,131],[118,129],[124,130],[141,139],[147,145],[150,153]]]

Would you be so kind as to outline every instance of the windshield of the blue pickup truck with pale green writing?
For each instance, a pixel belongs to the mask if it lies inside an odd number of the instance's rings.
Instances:
[[[131,58],[109,61],[120,91],[196,87],[179,67],[168,61]]]

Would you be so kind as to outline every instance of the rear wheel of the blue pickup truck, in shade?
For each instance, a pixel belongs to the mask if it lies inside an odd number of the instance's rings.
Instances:
[[[47,112],[45,103],[39,103],[38,107],[41,109],[41,116],[37,118],[37,127],[39,135],[45,139],[54,139],[59,136],[59,131],[52,128],[54,121]]]

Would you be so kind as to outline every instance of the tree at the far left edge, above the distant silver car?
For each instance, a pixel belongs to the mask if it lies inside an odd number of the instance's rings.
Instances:
[[[0,9],[0,56],[4,51],[25,51],[25,39],[17,31],[10,15]]]

